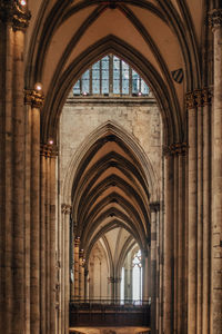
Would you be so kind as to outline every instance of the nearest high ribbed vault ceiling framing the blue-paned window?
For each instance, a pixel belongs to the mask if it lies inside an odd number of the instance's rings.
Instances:
[[[165,143],[183,140],[184,94],[208,85],[202,70],[208,60],[200,55],[211,6],[206,0],[30,0],[26,85],[43,85],[42,140],[56,137],[71,86],[108,52],[127,60],[152,88]],[[183,73],[180,82],[176,70]]]

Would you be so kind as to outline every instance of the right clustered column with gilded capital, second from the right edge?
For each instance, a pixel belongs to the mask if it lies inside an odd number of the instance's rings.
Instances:
[[[189,333],[201,334],[204,331],[209,332],[206,318],[210,311],[210,90],[204,88],[189,92],[186,108],[189,119],[188,330]]]

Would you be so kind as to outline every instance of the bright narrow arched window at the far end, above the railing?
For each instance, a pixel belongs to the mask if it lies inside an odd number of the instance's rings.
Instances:
[[[132,298],[140,303],[142,299],[142,262],[141,250],[134,254],[132,259]]]

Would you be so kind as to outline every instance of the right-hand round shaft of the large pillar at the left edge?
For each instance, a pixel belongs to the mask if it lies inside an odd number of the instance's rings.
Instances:
[[[13,311],[11,333],[24,328],[24,105],[23,105],[24,33],[14,32],[13,62]],[[18,312],[19,311],[19,312]]]

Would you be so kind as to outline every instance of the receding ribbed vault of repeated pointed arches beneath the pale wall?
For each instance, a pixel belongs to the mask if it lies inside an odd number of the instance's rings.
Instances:
[[[150,242],[149,185],[137,155],[111,130],[91,145],[72,185],[72,217],[87,258],[113,228],[123,228],[147,253]]]

